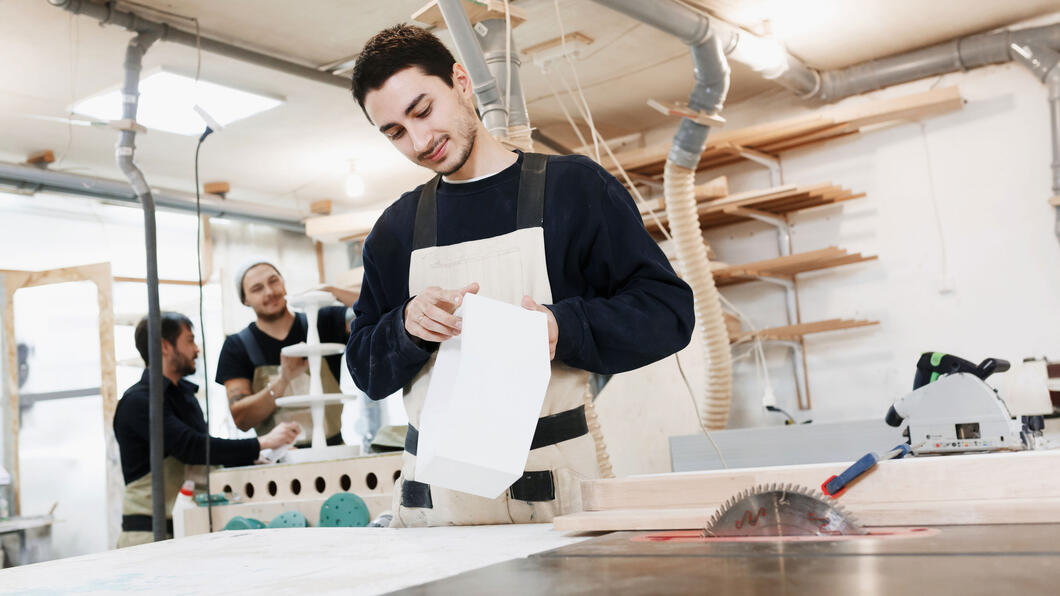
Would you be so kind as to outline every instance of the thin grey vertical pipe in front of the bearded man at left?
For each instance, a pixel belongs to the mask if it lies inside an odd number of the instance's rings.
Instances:
[[[147,436],[151,461],[152,531],[155,542],[165,540],[165,474],[162,470],[162,319],[158,306],[158,243],[155,238],[155,199],[143,172],[134,161],[136,112],[140,105],[140,70],[143,55],[160,37],[151,30],[138,33],[125,48],[125,85],[122,88],[122,121],[118,137],[118,168],[129,179],[143,205],[143,240],[147,257]]]

